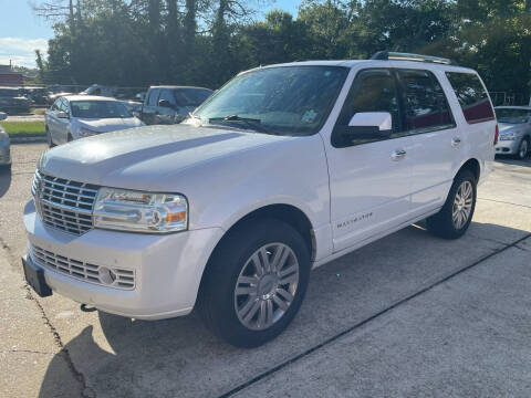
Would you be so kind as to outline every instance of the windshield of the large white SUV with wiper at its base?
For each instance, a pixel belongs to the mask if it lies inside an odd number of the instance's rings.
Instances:
[[[311,135],[329,116],[347,74],[342,66],[260,69],[232,78],[194,116],[202,125]]]

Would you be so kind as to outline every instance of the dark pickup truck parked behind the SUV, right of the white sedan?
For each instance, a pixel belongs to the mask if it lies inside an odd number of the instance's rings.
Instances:
[[[144,101],[140,119],[148,125],[180,123],[212,93],[202,87],[152,86]]]

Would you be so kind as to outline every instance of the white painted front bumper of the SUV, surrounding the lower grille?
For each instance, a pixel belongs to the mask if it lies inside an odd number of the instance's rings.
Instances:
[[[221,239],[220,228],[155,235],[93,229],[80,237],[45,227],[33,200],[24,208],[28,258],[43,269],[52,291],[82,304],[138,320],[188,314],[196,302],[202,271]],[[121,290],[76,279],[45,266],[39,247],[66,259],[131,270],[135,287]]]

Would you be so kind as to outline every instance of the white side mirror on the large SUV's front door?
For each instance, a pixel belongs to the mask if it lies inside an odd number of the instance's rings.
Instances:
[[[345,134],[350,138],[388,138],[393,133],[393,117],[388,112],[358,112],[352,116]]]

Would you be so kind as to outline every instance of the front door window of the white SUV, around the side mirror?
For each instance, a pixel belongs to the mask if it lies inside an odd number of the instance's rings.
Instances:
[[[342,134],[348,128],[352,116],[360,112],[388,112],[393,117],[393,135],[402,130],[395,78],[389,71],[367,70],[356,76],[334,127],[334,146],[345,147],[382,140],[382,137],[346,138]],[[348,143],[345,139],[348,139]]]

